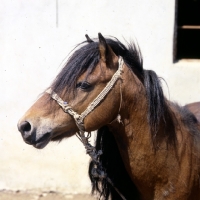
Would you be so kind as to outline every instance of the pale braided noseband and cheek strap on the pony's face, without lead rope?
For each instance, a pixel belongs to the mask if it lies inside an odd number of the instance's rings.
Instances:
[[[112,76],[111,80],[107,83],[106,87],[100,92],[100,94],[93,100],[92,103],[89,104],[89,106],[85,109],[85,111],[83,111],[80,115],[77,112],[75,112],[67,102],[63,101],[54,91],[52,91],[51,88],[46,90],[46,92],[49,93],[51,97],[62,107],[63,111],[68,113],[74,118],[76,125],[81,132],[85,132],[84,128],[85,117],[90,112],[92,112],[94,108],[104,99],[104,97],[108,94],[108,92],[113,88],[115,82],[121,77],[124,64],[122,57],[119,57],[118,64],[119,64],[118,70]]]

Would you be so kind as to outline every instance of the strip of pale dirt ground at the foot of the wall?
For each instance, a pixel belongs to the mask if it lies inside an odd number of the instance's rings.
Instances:
[[[57,192],[0,191],[0,200],[95,200],[89,194],[61,194]]]

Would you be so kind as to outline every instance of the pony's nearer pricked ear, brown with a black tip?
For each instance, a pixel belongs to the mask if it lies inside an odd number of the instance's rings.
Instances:
[[[102,36],[102,34],[99,33],[98,36],[99,36],[99,52],[101,60],[107,63],[112,62],[112,60],[117,56],[113,52],[112,48],[106,43],[106,40]]]

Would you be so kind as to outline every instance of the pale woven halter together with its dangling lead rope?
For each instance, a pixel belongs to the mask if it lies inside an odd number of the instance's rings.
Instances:
[[[88,107],[85,109],[85,111],[83,111],[80,115],[77,112],[75,112],[66,101],[63,101],[58,96],[58,94],[56,94],[54,91],[52,91],[51,88],[49,88],[48,90],[46,90],[46,93],[50,94],[51,98],[54,99],[62,107],[62,109],[63,109],[63,111],[65,113],[68,113],[69,115],[71,115],[74,118],[74,120],[76,122],[76,125],[77,125],[77,127],[79,129],[79,131],[77,133],[77,137],[81,140],[81,142],[83,143],[83,145],[86,148],[86,153],[90,155],[90,157],[92,158],[92,161],[94,162],[94,168],[92,170],[93,177],[107,179],[107,181],[115,188],[115,190],[118,192],[118,194],[121,196],[121,198],[123,200],[126,200],[125,197],[114,186],[113,182],[107,176],[106,172],[104,172],[104,169],[101,166],[101,163],[99,162],[99,156],[102,155],[103,152],[101,150],[99,150],[97,152],[96,149],[95,149],[95,147],[93,147],[89,143],[88,139],[90,138],[91,133],[88,133],[87,136],[86,136],[85,135],[85,126],[84,126],[84,119],[85,119],[85,117],[90,112],[92,112],[95,109],[95,107],[101,101],[103,101],[103,99],[105,98],[105,96],[113,88],[113,86],[116,83],[116,81],[121,78],[121,75],[122,75],[122,72],[123,72],[123,65],[124,65],[124,61],[123,61],[122,57],[119,57],[118,65],[119,65],[118,70],[114,73],[114,75],[112,76],[111,80],[107,83],[106,87],[99,93],[99,95],[93,100],[93,102],[90,103],[88,105]],[[121,85],[120,85],[120,92],[121,92]],[[121,98],[122,98],[122,96],[121,96]],[[120,107],[121,107],[121,103],[120,103]],[[116,120],[120,121],[120,115],[119,114],[116,117]]]

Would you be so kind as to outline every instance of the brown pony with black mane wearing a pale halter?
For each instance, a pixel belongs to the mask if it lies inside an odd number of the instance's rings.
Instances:
[[[89,176],[100,199],[200,199],[195,115],[167,100],[157,74],[143,69],[138,45],[101,33],[86,38],[19,120],[23,140],[42,149],[78,133],[93,156]],[[87,140],[94,130],[95,150]],[[113,184],[94,176],[97,163]]]

